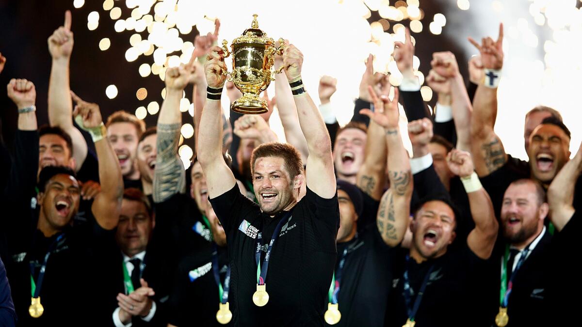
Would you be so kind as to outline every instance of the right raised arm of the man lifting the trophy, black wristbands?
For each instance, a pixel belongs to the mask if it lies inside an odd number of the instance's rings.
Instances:
[[[307,187],[322,198],[332,198],[337,190],[335,172],[333,171],[331,140],[329,140],[329,134],[320,111],[303,88],[302,65],[303,54],[293,44],[289,44],[283,52],[283,66],[291,90],[293,90],[299,125],[309,150],[306,164]]]

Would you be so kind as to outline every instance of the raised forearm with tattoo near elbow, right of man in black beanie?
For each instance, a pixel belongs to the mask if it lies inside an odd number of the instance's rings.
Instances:
[[[357,175],[357,186],[374,200],[380,200],[386,172],[386,140],[384,128],[373,120],[368,126],[365,161]]]

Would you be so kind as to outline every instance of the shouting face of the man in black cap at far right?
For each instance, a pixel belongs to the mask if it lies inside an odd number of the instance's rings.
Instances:
[[[569,147],[570,138],[560,127],[551,124],[536,127],[527,149],[533,177],[544,184],[551,183],[569,160]]]

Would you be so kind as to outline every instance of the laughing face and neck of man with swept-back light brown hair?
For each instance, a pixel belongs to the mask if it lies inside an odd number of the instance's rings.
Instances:
[[[121,173],[127,179],[139,179],[136,165],[137,128],[132,123],[117,122],[107,127],[107,137],[121,166]]]

